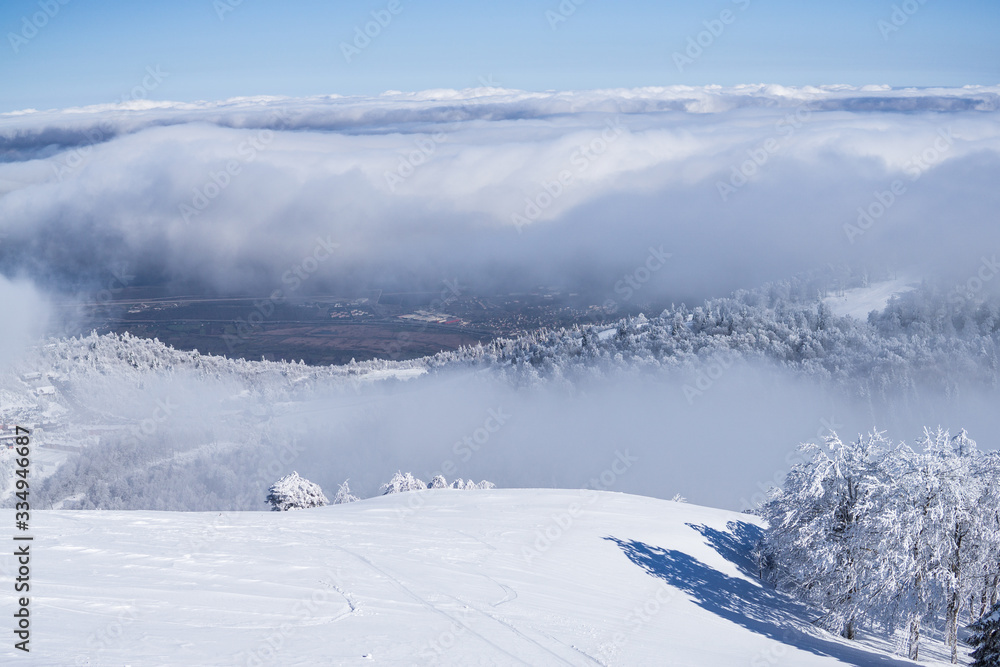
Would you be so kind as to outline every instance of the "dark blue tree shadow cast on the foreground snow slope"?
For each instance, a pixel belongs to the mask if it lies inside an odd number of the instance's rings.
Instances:
[[[750,551],[762,533],[757,526],[730,521],[727,530],[720,531],[687,525],[701,533],[719,555],[758,583],[730,577],[681,551],[616,537],[604,539],[617,544],[629,560],[650,576],[687,593],[701,608],[774,641],[849,665],[913,664],[804,632],[801,628],[809,625],[808,607],[757,580],[750,559]]]

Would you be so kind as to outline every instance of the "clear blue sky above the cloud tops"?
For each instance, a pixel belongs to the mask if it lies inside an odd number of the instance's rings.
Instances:
[[[482,81],[526,90],[1000,83],[995,0],[564,0],[562,12],[559,0],[395,0],[395,14],[392,0],[63,2],[0,3],[0,111],[118,100],[147,67],[168,75],[143,94],[182,101]],[[380,11],[391,21],[348,62],[341,44]],[[704,48],[678,67],[674,54],[687,56],[699,33]]]

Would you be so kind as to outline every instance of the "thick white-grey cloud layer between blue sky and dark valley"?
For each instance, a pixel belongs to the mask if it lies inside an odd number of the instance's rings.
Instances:
[[[267,294],[305,266],[304,291],[599,302],[662,247],[644,298],[826,263],[962,280],[1000,250],[998,111],[1000,87],[754,85],[3,114],[0,272]]]

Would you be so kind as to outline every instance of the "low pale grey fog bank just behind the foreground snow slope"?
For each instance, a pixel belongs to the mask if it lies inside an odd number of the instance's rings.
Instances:
[[[927,395],[872,406],[832,396],[773,369],[726,369],[704,392],[698,378],[603,379],[575,391],[514,391],[471,377],[430,378],[363,410],[327,439],[328,417],[289,415],[304,429],[300,474],[336,489],[351,479],[363,495],[397,469],[425,481],[439,473],[501,487],[602,488],[747,509],[796,462],[803,442],[833,431],[844,440],[873,427],[913,441],[924,426],[969,430],[996,448],[997,395]],[[689,400],[690,399],[690,400]]]

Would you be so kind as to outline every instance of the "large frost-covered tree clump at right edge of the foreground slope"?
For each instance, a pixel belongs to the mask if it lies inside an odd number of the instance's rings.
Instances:
[[[940,428],[925,430],[917,449],[875,433],[803,451],[762,510],[761,555],[776,583],[847,637],[859,623],[907,627],[913,660],[922,627],[943,618],[957,662],[963,606],[996,602],[1000,457]]]

